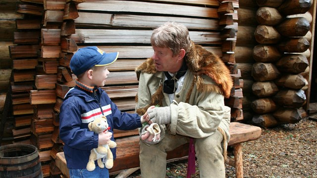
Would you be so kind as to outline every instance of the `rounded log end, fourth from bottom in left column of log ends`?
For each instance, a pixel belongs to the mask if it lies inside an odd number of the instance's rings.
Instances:
[[[264,82],[276,79],[279,71],[272,63],[257,62],[253,64],[251,76],[256,81]]]

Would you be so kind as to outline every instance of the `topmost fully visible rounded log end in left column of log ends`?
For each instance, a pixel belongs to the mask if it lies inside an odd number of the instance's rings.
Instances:
[[[283,16],[276,8],[260,7],[256,14],[256,19],[261,25],[274,26],[282,22]]]

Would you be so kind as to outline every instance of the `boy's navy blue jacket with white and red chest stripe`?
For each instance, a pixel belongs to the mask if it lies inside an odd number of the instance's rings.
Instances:
[[[142,126],[138,114],[121,112],[103,89],[89,92],[76,86],[68,91],[59,113],[59,134],[65,143],[67,168],[86,169],[90,151],[98,147],[98,134],[89,131],[88,124],[103,114],[111,133],[113,129],[134,130]],[[114,141],[113,135],[111,140]],[[116,149],[111,151],[115,159]],[[97,161],[95,163],[97,166]]]

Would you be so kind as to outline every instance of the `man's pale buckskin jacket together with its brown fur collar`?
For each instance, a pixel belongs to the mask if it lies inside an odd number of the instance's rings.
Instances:
[[[230,108],[224,105],[224,97],[229,97],[233,86],[230,71],[218,56],[193,42],[184,59],[188,71],[183,88],[175,93],[172,103],[162,91],[165,75],[156,70],[152,58],[136,68],[139,80],[136,111],[143,115],[149,106],[170,106],[171,124],[161,126],[161,139],[164,130],[203,138],[218,129],[225,146],[230,136]]]

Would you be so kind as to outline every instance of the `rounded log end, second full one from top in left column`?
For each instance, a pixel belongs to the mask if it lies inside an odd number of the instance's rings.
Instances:
[[[281,35],[278,31],[268,25],[258,25],[254,32],[255,39],[260,44],[276,44],[280,41]]]

